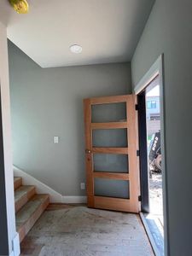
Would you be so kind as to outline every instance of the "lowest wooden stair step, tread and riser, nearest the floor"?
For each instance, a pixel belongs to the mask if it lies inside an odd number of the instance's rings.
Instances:
[[[16,230],[19,232],[20,241],[26,236],[32,226],[49,205],[49,195],[34,195],[24,207],[16,213]]]

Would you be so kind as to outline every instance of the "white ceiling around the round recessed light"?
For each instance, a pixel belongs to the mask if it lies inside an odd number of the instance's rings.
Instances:
[[[28,0],[18,15],[1,0],[8,38],[41,67],[131,61],[154,0]],[[69,47],[80,44],[81,54]]]

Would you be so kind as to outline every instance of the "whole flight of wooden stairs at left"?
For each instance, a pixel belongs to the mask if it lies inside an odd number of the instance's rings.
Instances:
[[[34,186],[22,185],[21,177],[14,177],[16,230],[20,242],[49,205],[49,195],[36,194]]]

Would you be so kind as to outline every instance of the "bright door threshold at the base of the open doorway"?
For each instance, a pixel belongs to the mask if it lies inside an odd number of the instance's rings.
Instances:
[[[148,235],[148,240],[154,250],[155,256],[164,256],[164,237],[163,230],[154,219],[153,215],[140,212],[143,226]]]

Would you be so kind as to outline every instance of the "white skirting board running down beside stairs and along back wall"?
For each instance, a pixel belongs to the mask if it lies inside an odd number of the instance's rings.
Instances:
[[[49,194],[51,203],[86,203],[87,197],[80,195],[61,195],[54,189],[51,189],[48,185],[40,182],[37,178],[32,177],[28,173],[20,170],[18,167],[13,166],[14,176],[22,177],[24,185],[34,185],[38,194]]]

